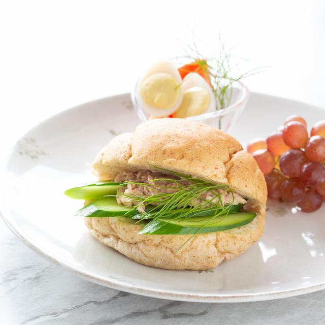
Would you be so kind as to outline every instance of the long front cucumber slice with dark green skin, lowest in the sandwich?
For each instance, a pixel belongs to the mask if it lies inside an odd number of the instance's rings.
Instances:
[[[144,226],[139,234],[142,235],[191,235],[214,233],[227,229],[237,228],[251,222],[255,212],[235,212],[228,215],[211,217],[191,217],[152,220]]]

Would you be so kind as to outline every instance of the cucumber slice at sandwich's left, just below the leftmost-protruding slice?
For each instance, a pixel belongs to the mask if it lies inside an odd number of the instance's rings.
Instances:
[[[131,208],[118,204],[115,197],[108,197],[86,205],[78,210],[75,215],[96,218],[118,217],[125,215],[130,210]]]

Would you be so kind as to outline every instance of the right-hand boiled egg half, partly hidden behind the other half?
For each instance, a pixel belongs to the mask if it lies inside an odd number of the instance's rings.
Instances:
[[[190,117],[215,110],[216,102],[212,89],[198,73],[187,74],[182,85],[183,100],[174,117]]]

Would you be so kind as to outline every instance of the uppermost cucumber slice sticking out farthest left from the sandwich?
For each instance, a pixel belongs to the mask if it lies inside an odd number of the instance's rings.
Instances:
[[[80,187],[73,187],[64,192],[68,197],[78,200],[96,200],[107,195],[115,195],[123,183],[96,182]]]

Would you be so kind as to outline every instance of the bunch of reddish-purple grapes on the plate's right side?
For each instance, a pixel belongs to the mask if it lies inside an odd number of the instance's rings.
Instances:
[[[309,137],[306,121],[291,115],[266,140],[253,139],[247,151],[264,173],[269,199],[291,202],[304,212],[325,202],[325,120]]]

